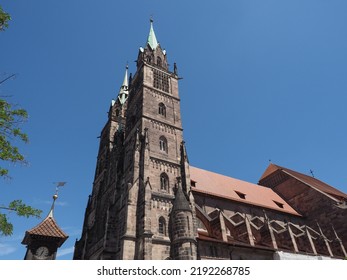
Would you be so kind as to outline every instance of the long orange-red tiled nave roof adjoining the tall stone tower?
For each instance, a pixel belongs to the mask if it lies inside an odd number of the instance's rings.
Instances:
[[[190,166],[190,178],[192,181],[195,181],[195,187],[192,187],[193,192],[205,193],[215,197],[300,216],[298,212],[270,188],[193,166]],[[240,195],[244,195],[244,199]]]

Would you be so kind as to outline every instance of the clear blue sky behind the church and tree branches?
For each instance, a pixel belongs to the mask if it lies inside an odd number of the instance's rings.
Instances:
[[[10,166],[0,204],[22,198],[55,218],[71,259],[92,190],[100,131],[149,18],[177,63],[184,138],[194,166],[257,183],[273,163],[347,192],[347,1],[1,1],[0,95],[27,109],[27,166]],[[11,215],[0,259],[22,259],[25,230]]]

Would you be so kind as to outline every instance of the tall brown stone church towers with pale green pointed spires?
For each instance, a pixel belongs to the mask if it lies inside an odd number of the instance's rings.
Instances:
[[[181,259],[196,259],[178,80],[176,64],[170,71],[151,20],[136,73],[128,80],[126,71],[100,136],[93,191],[74,259],[180,259],[172,253],[173,243],[176,251],[189,247],[180,251]],[[169,233],[178,230],[182,213],[189,231],[184,242]]]

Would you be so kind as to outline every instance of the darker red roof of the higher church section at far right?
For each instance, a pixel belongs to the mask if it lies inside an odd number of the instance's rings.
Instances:
[[[297,180],[301,181],[302,183],[313,187],[315,189],[320,190],[321,192],[324,192],[326,194],[332,195],[334,197],[337,198],[343,198],[343,199],[347,199],[347,194],[339,191],[338,189],[312,177],[312,176],[308,176],[302,173],[299,173],[297,171],[285,168],[285,167],[281,167],[275,164],[270,164],[268,166],[268,168],[265,170],[264,174],[261,176],[259,182],[261,182],[263,179],[265,179],[266,177],[268,177],[269,175],[273,174],[274,172],[276,172],[277,170],[283,171],[286,174],[288,174],[289,176],[296,178]]]

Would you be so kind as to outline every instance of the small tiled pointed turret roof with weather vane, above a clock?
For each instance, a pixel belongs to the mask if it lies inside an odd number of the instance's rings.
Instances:
[[[58,195],[55,194],[53,196],[53,203],[47,217],[37,226],[25,232],[25,236],[23,238],[22,244],[29,244],[30,239],[32,237],[41,236],[46,238],[60,239],[58,243],[58,246],[60,247],[65,242],[65,240],[69,237],[58,226],[53,216],[54,204],[57,198],[58,198]]]

